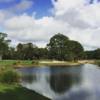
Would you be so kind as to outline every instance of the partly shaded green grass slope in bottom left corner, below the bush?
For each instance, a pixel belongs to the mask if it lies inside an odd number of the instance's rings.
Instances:
[[[0,100],[50,100],[19,85],[0,84]]]

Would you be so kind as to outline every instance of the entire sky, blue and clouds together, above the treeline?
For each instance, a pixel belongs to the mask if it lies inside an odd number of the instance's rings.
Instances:
[[[0,32],[12,46],[45,47],[62,33],[94,50],[100,48],[100,0],[0,0]]]

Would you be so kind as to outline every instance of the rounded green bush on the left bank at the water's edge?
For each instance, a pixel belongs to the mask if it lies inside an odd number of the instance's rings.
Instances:
[[[16,71],[9,70],[1,73],[0,81],[2,83],[13,84],[18,83],[20,76]]]

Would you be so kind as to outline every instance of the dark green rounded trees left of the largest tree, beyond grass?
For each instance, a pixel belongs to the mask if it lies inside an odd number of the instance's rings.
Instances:
[[[37,46],[32,43],[17,45],[17,59],[21,60],[32,60],[37,54]]]

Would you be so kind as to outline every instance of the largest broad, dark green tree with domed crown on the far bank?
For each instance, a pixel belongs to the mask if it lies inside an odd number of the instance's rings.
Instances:
[[[83,58],[83,47],[77,41],[69,40],[63,34],[56,34],[47,44],[48,56],[56,60],[78,60]]]

